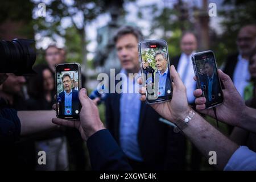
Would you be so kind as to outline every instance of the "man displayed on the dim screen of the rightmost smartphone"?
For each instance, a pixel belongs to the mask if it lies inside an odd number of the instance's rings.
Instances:
[[[207,75],[205,80],[205,97],[207,101],[213,101],[218,97],[218,77],[214,72],[214,64],[210,61],[205,61],[204,70]]]

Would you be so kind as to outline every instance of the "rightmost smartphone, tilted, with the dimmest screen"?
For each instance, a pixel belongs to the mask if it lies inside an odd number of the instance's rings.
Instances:
[[[203,96],[207,99],[206,108],[220,105],[223,102],[223,93],[213,51],[197,52],[191,58],[197,77],[197,88],[203,90]]]

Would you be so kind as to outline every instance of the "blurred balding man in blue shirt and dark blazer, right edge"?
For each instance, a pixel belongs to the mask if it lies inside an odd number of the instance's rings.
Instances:
[[[249,84],[249,56],[256,47],[256,25],[241,28],[237,36],[238,53],[229,55],[223,71],[233,80],[238,92],[243,97],[245,86]]]

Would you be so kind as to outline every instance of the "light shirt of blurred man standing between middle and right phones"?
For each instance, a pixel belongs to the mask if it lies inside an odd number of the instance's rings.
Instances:
[[[187,88],[187,97],[188,97],[188,103],[192,103],[195,100],[195,97],[193,95],[194,90],[196,89],[196,81],[193,79],[195,76],[194,70],[193,70],[193,64],[191,60],[191,56],[194,52],[191,53],[191,55],[186,55],[185,53],[181,53],[179,64],[177,66],[177,72],[179,73],[180,77],[183,78],[184,76],[184,85]],[[184,69],[186,67],[186,64],[188,65],[187,72],[184,72]]]

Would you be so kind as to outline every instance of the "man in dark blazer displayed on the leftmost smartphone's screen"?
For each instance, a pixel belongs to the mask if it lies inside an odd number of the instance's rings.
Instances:
[[[60,92],[58,96],[59,112],[63,115],[79,114],[77,113],[79,111],[79,92],[72,89],[71,76],[64,74],[61,80],[64,91]]]

